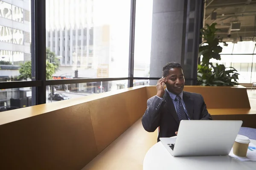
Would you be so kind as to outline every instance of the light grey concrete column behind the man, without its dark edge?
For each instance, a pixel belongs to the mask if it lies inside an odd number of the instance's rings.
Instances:
[[[162,77],[167,62],[181,62],[183,13],[184,0],[153,1],[150,77]]]

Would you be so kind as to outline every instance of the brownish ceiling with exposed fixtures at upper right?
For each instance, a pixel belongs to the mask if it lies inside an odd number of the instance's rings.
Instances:
[[[223,41],[256,41],[256,0],[205,0],[205,24],[217,23]],[[216,17],[214,13],[216,12]],[[241,23],[236,30],[231,25]]]

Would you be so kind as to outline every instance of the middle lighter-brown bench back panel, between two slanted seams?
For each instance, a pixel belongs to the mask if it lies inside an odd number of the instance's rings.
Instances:
[[[125,105],[125,93],[89,102],[99,153],[131,126],[128,109]]]

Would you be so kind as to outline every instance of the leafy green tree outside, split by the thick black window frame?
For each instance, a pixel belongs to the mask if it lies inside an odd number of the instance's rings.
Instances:
[[[19,80],[22,79],[32,79],[31,74],[31,61],[25,62],[23,65],[21,65],[19,72],[20,75],[18,76]],[[50,63],[49,61],[46,61],[46,79],[52,79],[52,75],[55,73],[55,66],[53,63]]]

